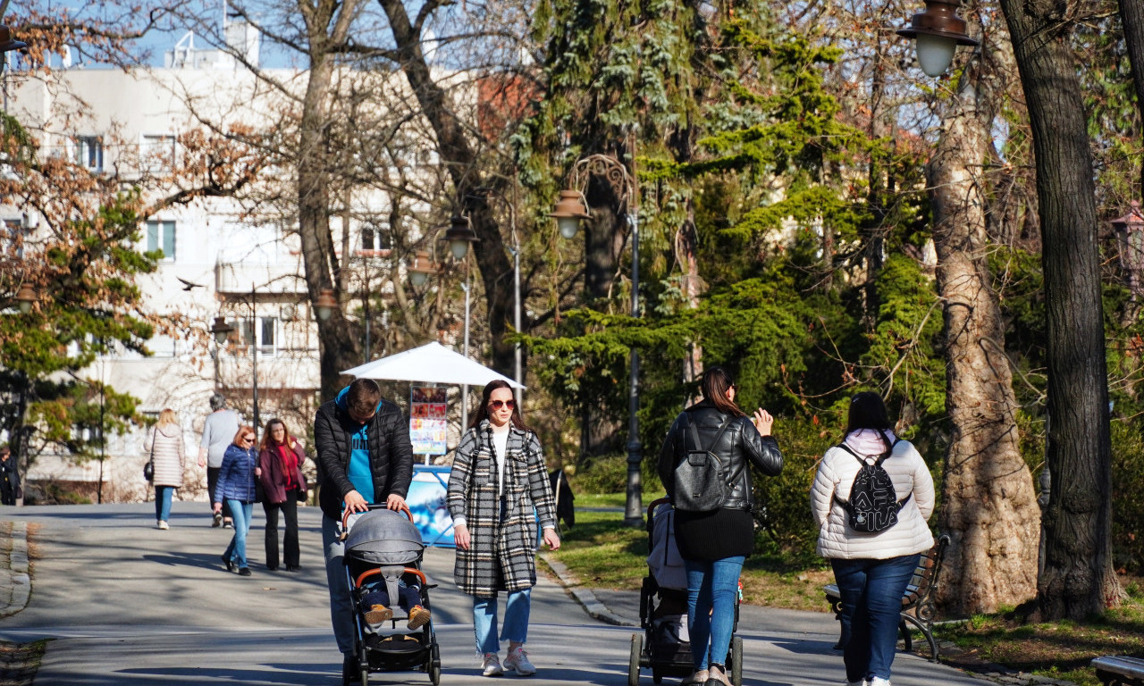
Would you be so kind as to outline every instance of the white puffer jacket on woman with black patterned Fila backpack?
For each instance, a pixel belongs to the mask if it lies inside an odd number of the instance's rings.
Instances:
[[[856,436],[868,431],[851,433],[847,437],[847,445],[851,448],[856,448],[856,445],[865,447],[855,452],[871,455],[867,461],[873,464],[874,457],[885,448],[881,439],[872,444],[868,437]],[[893,440],[892,433],[890,440]],[[932,548],[934,535],[925,521],[934,512],[934,478],[913,444],[899,440],[893,446],[893,453],[882,463],[882,468],[893,480],[893,492],[899,501],[913,493],[909,502],[898,512],[898,524],[884,532],[855,532],[847,521],[845,508],[834,498],[835,495],[844,501],[850,498],[850,486],[859,466],[853,455],[837,446],[826,450],[818,464],[815,485],[810,488],[810,506],[815,513],[815,523],[818,524],[818,555],[844,560],[884,560]]]

